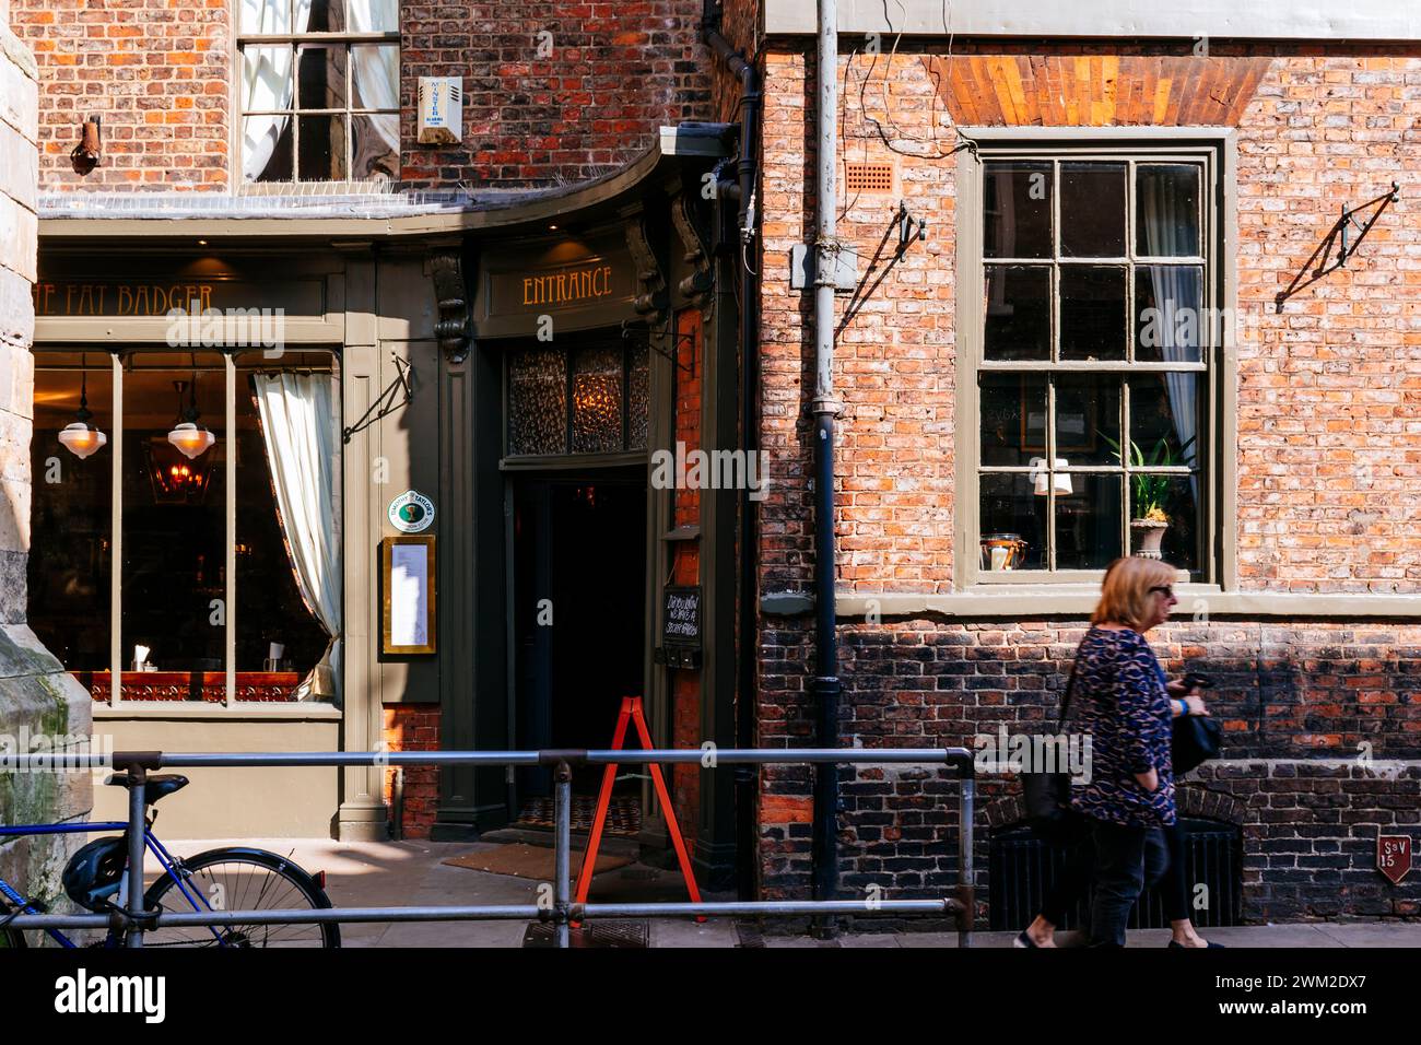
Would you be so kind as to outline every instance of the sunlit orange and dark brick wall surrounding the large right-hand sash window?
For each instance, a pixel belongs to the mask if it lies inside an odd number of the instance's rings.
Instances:
[[[845,50],[855,43],[845,40]],[[1273,296],[1343,202],[1373,199],[1393,179],[1405,185],[1421,117],[1421,48],[1225,44],[1179,82],[1188,67],[1171,63],[1184,55],[1188,48],[1040,43],[959,45],[951,57],[945,47],[899,48],[891,64],[887,55],[844,55],[843,159],[892,164],[895,191],[840,200],[840,235],[857,246],[860,274],[865,283],[884,276],[836,348],[836,391],[845,401],[836,491],[841,591],[952,590],[955,119],[1236,122],[1239,510],[1231,522],[1239,583],[1421,591],[1421,327],[1407,293],[1418,279],[1421,230],[1407,218],[1404,191],[1347,269],[1273,311]],[[814,567],[813,495],[800,479],[811,463],[813,347],[807,296],[790,290],[787,272],[790,247],[811,237],[814,220],[814,63],[799,47],[772,50],[764,63],[762,444],[774,482],[762,508],[760,583],[774,593],[807,590]],[[1077,82],[1067,90],[1052,70],[1069,70]],[[1162,71],[1171,84],[1161,94]],[[1154,92],[1145,90],[1150,77]],[[1042,85],[1053,82],[1060,90],[1047,97]],[[897,264],[880,256],[875,266],[899,199],[929,220],[929,239]],[[845,303],[838,299],[841,314]],[[998,725],[1029,731],[1056,708],[1083,627],[941,616],[848,624],[843,742],[948,746],[971,745]],[[1226,728],[1226,761],[1199,772],[1194,800],[1212,809],[1218,802],[1208,796],[1226,795],[1242,810],[1246,916],[1415,914],[1421,884],[1394,887],[1374,869],[1378,830],[1418,830],[1415,623],[1215,616],[1151,638],[1171,671],[1188,665],[1219,682],[1211,705]],[[811,621],[767,617],[760,641],[759,744],[803,745],[814,735]],[[952,883],[956,788],[945,775],[882,768],[843,779],[845,893],[877,883],[914,894]],[[803,896],[810,776],[786,768],[764,781],[762,884],[767,896]],[[1015,795],[1005,778],[979,789],[979,867],[989,829],[1015,822],[990,823],[986,810],[1009,809]]]

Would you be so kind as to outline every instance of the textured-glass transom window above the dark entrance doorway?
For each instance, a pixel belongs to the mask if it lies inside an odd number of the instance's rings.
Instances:
[[[625,341],[507,354],[507,455],[647,448],[647,345]]]

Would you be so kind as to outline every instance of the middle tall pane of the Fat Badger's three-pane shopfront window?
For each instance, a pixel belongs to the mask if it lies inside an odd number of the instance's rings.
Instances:
[[[135,353],[126,364],[122,695],[202,700],[205,691],[213,695],[222,690],[226,648],[225,471],[230,446],[223,429],[223,361],[213,351]],[[168,441],[179,422],[206,428],[212,445],[203,449],[195,444],[188,456]],[[159,677],[131,672],[139,645],[148,648],[146,661]],[[180,678],[169,672],[180,672]]]

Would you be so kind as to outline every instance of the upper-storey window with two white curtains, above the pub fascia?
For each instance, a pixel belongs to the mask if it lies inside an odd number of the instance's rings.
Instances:
[[[244,182],[399,176],[398,0],[242,0]]]

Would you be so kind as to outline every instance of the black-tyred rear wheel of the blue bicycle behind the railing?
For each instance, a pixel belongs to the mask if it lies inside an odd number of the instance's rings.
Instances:
[[[227,847],[180,860],[175,869],[202,910],[257,911],[331,906],[315,880],[291,860],[263,849]],[[172,874],[163,874],[144,897],[159,914],[192,914],[195,904]],[[144,934],[145,947],[340,947],[335,923],[288,926],[182,926]]]

